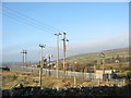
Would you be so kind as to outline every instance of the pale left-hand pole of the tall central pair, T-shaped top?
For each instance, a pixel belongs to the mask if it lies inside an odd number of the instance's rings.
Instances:
[[[55,34],[57,36],[57,78],[59,76],[59,34]]]

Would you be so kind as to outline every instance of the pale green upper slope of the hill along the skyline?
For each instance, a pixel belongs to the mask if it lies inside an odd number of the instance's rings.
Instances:
[[[129,57],[129,48],[120,48],[120,49],[112,49],[112,50],[105,50],[102,51],[105,53],[105,58],[115,58],[117,56],[120,57]],[[84,54],[76,54],[76,56],[72,56],[70,58],[67,59],[67,61],[72,62],[72,61],[81,61],[81,62],[85,62],[88,60],[98,60],[102,59],[100,53],[102,52],[92,52],[92,53],[84,53]]]

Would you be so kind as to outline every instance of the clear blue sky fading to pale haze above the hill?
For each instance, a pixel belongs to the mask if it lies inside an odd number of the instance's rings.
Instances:
[[[1,10],[0,10],[1,12]],[[56,33],[67,33],[67,57],[124,48],[129,45],[128,2],[3,2],[3,62],[39,60],[39,44],[45,58],[56,60]],[[62,35],[60,58],[62,58]]]

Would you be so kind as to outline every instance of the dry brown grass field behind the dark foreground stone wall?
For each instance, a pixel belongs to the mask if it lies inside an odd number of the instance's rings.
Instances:
[[[22,83],[26,86],[39,86],[38,74],[29,73],[17,73],[17,72],[2,72],[2,89],[9,89],[17,83]],[[81,86],[94,86],[94,85],[105,85],[105,82],[90,82],[85,79],[76,78],[76,85]],[[108,83],[114,84],[114,83]],[[44,88],[63,88],[73,87],[74,78],[63,78],[63,77],[51,77],[43,76],[43,87]]]

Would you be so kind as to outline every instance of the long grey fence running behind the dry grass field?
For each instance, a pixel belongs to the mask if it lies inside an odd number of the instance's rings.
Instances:
[[[23,72],[23,73],[39,73],[39,68],[11,65],[10,71]],[[57,77],[57,70],[43,69],[43,75]],[[58,75],[59,77],[71,77],[71,78],[75,76],[76,78],[83,78],[87,81],[92,81],[95,78],[94,73],[82,73],[82,72],[72,72],[72,71],[66,71],[66,74],[64,71],[58,71]]]

